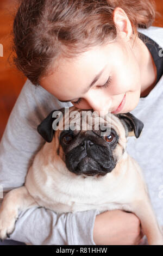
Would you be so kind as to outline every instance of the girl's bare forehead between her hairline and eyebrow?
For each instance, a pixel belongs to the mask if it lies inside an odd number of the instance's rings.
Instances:
[[[112,65],[120,59],[123,59],[123,52],[117,42],[93,47],[74,58],[61,57],[57,68],[54,63],[51,74],[40,80],[40,85],[59,100],[62,95],[74,100],[83,95],[98,75],[101,75],[101,84],[105,83]]]

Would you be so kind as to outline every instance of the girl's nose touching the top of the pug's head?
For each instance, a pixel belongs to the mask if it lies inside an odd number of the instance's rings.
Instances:
[[[94,110],[97,111],[99,114],[107,114],[111,111],[112,99],[108,95],[104,95],[104,93],[98,92],[91,92],[85,97],[85,100],[89,104],[89,106]]]

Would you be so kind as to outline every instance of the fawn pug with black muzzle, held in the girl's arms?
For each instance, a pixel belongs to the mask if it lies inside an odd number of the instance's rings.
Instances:
[[[71,116],[75,110],[78,115]],[[18,211],[33,206],[57,213],[121,209],[139,217],[149,245],[163,245],[142,170],[126,151],[128,136],[139,138],[143,123],[131,113],[110,114],[101,118],[110,133],[105,135],[104,131],[101,136],[101,127],[95,129],[90,119],[83,121],[82,109],[71,107],[69,115],[60,119],[53,113],[37,127],[46,142],[35,155],[24,186],[11,190],[3,199],[0,238],[12,233]],[[78,124],[85,122],[86,129],[67,126],[65,120],[71,123],[75,119]]]

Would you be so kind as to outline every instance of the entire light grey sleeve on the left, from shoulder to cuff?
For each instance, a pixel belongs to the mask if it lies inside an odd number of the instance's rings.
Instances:
[[[70,102],[59,102],[27,80],[0,143],[0,186],[4,194],[23,186],[34,155],[45,143],[36,130],[37,125],[54,109],[70,106]],[[19,213],[10,239],[32,245],[95,245],[93,227],[97,214],[98,210],[56,214],[33,207]]]

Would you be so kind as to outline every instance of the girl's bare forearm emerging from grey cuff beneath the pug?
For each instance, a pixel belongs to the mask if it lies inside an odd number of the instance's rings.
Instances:
[[[93,229],[96,245],[138,245],[142,237],[140,220],[135,214],[112,210],[96,216]]]

